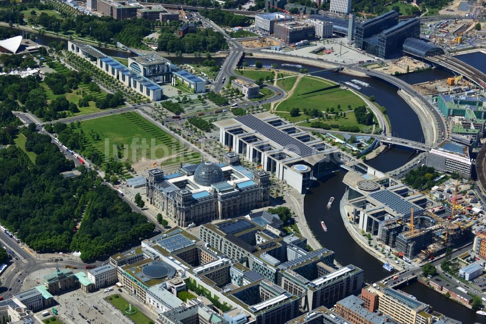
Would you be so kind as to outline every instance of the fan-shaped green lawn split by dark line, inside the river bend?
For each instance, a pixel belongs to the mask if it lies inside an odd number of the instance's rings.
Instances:
[[[351,106],[351,109],[365,105],[356,94],[347,89],[333,88],[335,85],[336,83],[322,78],[303,77],[295,87],[294,93],[277,105],[276,113],[287,117],[291,122],[298,122],[305,120],[308,116],[301,114],[297,117],[290,117],[289,111],[294,107],[299,108],[300,111],[303,111],[304,108],[316,108],[323,112],[326,111],[326,108],[334,107],[337,112],[344,112],[349,110],[348,105]],[[341,105],[341,110],[337,109],[337,105]],[[346,118],[350,119],[350,115],[351,113]]]

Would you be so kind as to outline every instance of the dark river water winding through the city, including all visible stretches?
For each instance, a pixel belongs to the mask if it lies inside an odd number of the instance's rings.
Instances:
[[[47,45],[52,41],[59,42],[58,38],[46,35],[38,35],[38,43]],[[65,40],[67,43],[67,41]],[[128,57],[130,54],[124,51],[101,49],[104,53],[117,57]],[[481,71],[486,70],[486,55],[485,54],[465,54],[456,56],[457,58],[475,66]],[[178,57],[171,58],[173,63],[194,63],[203,61],[205,58],[189,58]],[[245,61],[248,64],[254,64],[255,61],[261,61],[263,64],[277,63],[279,66],[285,61],[270,60],[270,59],[255,59],[247,56]],[[222,59],[217,59],[218,64],[221,64]],[[322,68],[311,65],[304,65],[309,72],[320,71]],[[282,67],[286,70],[298,71],[298,68]],[[324,78],[339,82],[350,81],[351,79],[359,79],[370,84],[370,87],[363,87],[361,92],[367,96],[374,95],[375,100],[381,106],[387,109],[388,118],[392,125],[393,136],[409,139],[412,141],[423,142],[423,131],[416,113],[410,106],[398,95],[397,90],[392,86],[376,79],[355,77],[345,73],[321,72],[314,75],[322,76]],[[414,72],[410,74],[400,75],[399,78],[407,81],[410,84],[416,84],[427,81],[434,81],[437,79],[444,79],[451,76],[450,72],[441,69],[433,69],[423,72]],[[387,172],[398,168],[406,161],[412,158],[413,150],[406,148],[394,147],[378,157],[368,161],[367,163],[383,172]],[[373,256],[365,252],[353,238],[348,234],[343,220],[340,216],[338,201],[345,193],[345,185],[342,180],[346,171],[335,172],[319,181],[315,181],[314,186],[308,191],[304,198],[304,214],[310,228],[316,229],[314,234],[323,247],[335,252],[336,260],[343,265],[353,264],[364,270],[364,278],[367,282],[374,282],[382,279],[390,273],[382,268],[382,263]],[[331,208],[327,208],[327,202],[330,197],[335,197],[336,202]],[[324,220],[328,227],[328,232],[321,230],[320,221]],[[403,288],[404,291],[415,295],[420,301],[430,304],[435,310],[462,321],[464,324],[472,324],[475,322],[486,323],[485,318],[476,315],[474,311],[463,307],[450,299],[442,298],[440,294],[415,283]]]

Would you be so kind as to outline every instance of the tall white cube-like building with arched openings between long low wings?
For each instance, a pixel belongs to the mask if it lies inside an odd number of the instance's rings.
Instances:
[[[157,54],[128,57],[128,68],[157,83],[169,83],[171,61]]]

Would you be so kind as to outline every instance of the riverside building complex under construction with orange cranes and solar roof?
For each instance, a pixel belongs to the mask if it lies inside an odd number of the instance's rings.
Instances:
[[[449,181],[419,192],[386,175],[353,171],[343,182],[349,222],[406,262],[420,264],[461,246],[484,221],[480,204],[465,189],[468,183]]]

